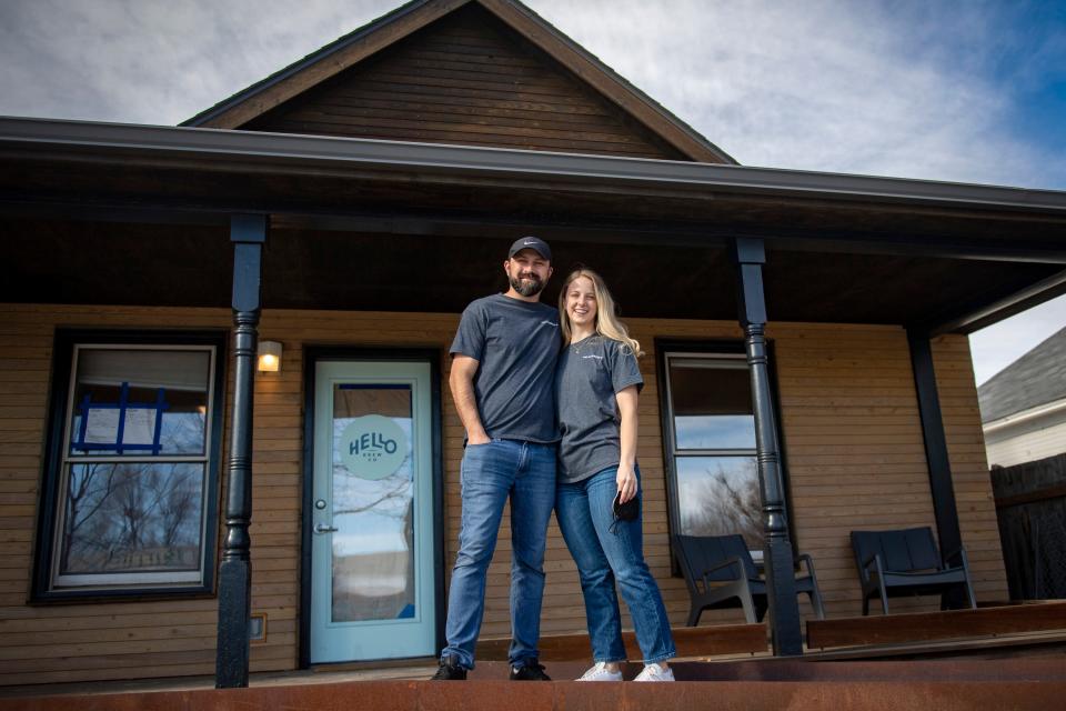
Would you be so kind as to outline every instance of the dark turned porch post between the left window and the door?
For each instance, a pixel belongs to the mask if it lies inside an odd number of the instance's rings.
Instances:
[[[219,640],[214,685],[248,685],[252,605],[252,401],[259,342],[259,287],[266,217],[230,219],[233,242],[233,411],[225,497],[225,541],[219,564]]]

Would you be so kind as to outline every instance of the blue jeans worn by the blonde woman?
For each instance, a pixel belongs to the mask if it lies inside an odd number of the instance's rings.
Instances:
[[[644,562],[643,505],[636,520],[619,521],[612,530],[617,473],[617,467],[611,467],[583,481],[561,482],[555,492],[555,517],[577,563],[593,661],[625,659],[614,590],[617,580],[644,662],[660,662],[676,654],[674,638],[658,585]]]

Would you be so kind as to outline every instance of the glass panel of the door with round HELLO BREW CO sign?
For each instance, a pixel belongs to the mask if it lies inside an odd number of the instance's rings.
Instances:
[[[332,621],[414,618],[410,384],[333,387]]]

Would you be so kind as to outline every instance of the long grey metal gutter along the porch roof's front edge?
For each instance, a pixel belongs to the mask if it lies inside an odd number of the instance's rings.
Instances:
[[[48,151],[129,154],[153,159],[195,158],[208,164],[227,161],[270,162],[279,172],[306,169],[338,173],[379,170],[415,171],[420,181],[439,177],[532,180],[551,178],[623,192],[672,193],[726,191],[834,201],[1006,210],[1066,219],[1066,192],[977,186],[956,182],[878,178],[742,166],[551,153],[481,147],[413,143],[373,139],[295,136],[185,127],[0,117],[0,150],[11,156]],[[51,157],[54,158],[54,157]]]

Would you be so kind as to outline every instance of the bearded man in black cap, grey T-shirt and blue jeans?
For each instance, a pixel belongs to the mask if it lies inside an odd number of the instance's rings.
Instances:
[[[452,343],[449,385],[466,429],[461,467],[462,524],[449,593],[447,647],[433,679],[474,668],[485,608],[485,575],[503,507],[511,499],[510,678],[547,681],[537,663],[544,547],[555,501],[559,313],[540,302],[552,251],[535,237],[511,246],[505,293],[473,301]]]

